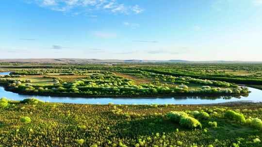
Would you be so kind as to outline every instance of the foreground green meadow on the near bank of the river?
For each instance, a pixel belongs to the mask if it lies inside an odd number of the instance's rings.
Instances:
[[[239,112],[245,122],[228,118],[229,110]],[[166,116],[170,111],[195,117],[201,128],[181,126]],[[196,111],[206,112],[208,117],[196,117]],[[89,105],[8,101],[0,108],[0,146],[261,147],[262,126],[252,126],[248,118],[262,118],[261,103]]]

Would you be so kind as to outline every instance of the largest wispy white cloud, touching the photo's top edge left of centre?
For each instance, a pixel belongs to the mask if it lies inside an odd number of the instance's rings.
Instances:
[[[53,11],[70,12],[78,14],[78,11],[106,11],[120,14],[139,14],[144,11],[139,5],[125,5],[118,0],[31,0],[41,7],[49,8]]]

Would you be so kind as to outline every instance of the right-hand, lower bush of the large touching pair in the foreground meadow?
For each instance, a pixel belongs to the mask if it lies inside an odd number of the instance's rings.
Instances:
[[[196,119],[188,116],[184,116],[180,119],[179,124],[183,127],[194,129],[197,127],[202,127],[201,123]]]

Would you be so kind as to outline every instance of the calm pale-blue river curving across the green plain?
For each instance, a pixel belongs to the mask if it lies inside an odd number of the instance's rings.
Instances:
[[[10,72],[0,73],[7,75]],[[251,93],[248,96],[236,97],[150,97],[150,98],[71,98],[71,97],[53,97],[38,95],[21,95],[14,92],[5,91],[0,86],[0,98],[6,97],[12,100],[23,100],[25,98],[37,98],[42,101],[54,103],[89,103],[89,104],[207,104],[207,103],[225,103],[236,101],[262,102],[262,90],[248,88]]]

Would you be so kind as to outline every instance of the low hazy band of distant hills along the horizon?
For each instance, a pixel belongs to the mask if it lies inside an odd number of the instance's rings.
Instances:
[[[0,63],[71,63],[71,64],[87,64],[87,63],[262,63],[255,61],[188,61],[188,60],[139,60],[139,59],[0,59]]]

